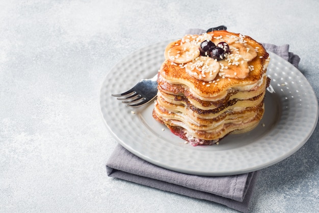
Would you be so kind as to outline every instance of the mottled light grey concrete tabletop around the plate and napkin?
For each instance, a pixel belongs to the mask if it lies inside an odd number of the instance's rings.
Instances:
[[[290,44],[319,94],[318,1],[0,1],[0,212],[237,212],[109,178],[104,76],[146,45],[226,25]],[[309,112],[311,113],[311,112]],[[250,212],[319,212],[318,127],[263,169]]]

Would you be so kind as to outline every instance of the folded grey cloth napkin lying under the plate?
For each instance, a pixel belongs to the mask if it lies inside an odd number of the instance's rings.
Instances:
[[[186,34],[204,33],[190,29]],[[289,53],[289,45],[263,44],[271,51],[298,67],[300,58]],[[247,212],[259,171],[231,176],[198,176],[170,171],[153,165],[130,153],[121,145],[107,162],[107,174],[131,182],[193,198],[214,201],[238,211]]]

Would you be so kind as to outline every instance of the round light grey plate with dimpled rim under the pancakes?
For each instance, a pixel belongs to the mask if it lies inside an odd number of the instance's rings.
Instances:
[[[129,108],[111,96],[126,91],[142,78],[153,77],[164,61],[169,42],[147,46],[125,57],[102,83],[103,118],[116,140],[128,151],[169,170],[222,176],[268,167],[306,143],[318,119],[315,93],[297,68],[273,53],[270,53],[268,75],[275,93],[266,93],[260,125],[248,133],[228,135],[219,145],[184,144],[184,140],[153,119],[153,103]]]

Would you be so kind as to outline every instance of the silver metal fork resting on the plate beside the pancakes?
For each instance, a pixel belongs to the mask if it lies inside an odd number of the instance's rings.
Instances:
[[[112,94],[118,97],[123,104],[129,107],[139,107],[152,101],[157,95],[157,74],[151,79],[142,79],[134,87],[120,94]]]

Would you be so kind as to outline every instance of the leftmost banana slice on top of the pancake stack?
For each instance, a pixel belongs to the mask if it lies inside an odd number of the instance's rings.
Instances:
[[[168,58],[174,63],[182,64],[192,61],[199,56],[198,46],[191,43],[183,43],[173,46],[168,52]]]

